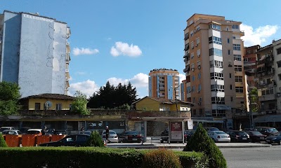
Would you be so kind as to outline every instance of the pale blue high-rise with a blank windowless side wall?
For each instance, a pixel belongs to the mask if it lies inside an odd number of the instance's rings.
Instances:
[[[0,15],[0,81],[20,85],[22,97],[67,94],[70,27],[34,13]]]

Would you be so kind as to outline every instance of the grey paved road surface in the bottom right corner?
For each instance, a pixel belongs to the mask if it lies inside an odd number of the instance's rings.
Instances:
[[[220,148],[228,168],[279,168],[281,167],[281,146],[267,148]]]

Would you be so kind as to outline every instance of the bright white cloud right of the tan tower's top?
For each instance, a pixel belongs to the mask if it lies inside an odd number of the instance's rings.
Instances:
[[[240,25],[240,29],[244,31],[244,36],[242,36],[242,40],[244,40],[244,46],[249,47],[251,45],[261,45],[261,43],[267,42],[268,38],[273,36],[278,28],[279,27],[277,25],[266,25],[263,27],[258,27],[257,29],[244,24]]]

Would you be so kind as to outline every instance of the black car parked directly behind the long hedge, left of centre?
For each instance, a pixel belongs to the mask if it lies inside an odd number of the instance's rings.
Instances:
[[[59,141],[39,144],[39,146],[86,146],[89,137],[88,134],[70,134]]]

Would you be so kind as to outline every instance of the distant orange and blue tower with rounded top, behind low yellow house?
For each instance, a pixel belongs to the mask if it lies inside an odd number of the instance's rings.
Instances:
[[[179,99],[179,90],[179,73],[176,69],[153,69],[150,71],[148,77],[149,97]]]

